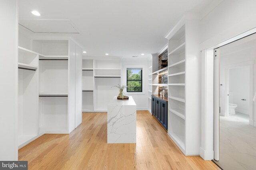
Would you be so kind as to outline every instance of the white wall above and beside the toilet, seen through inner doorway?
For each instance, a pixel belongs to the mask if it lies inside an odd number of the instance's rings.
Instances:
[[[236,111],[250,114],[250,67],[229,70],[229,103],[237,104]],[[232,95],[231,95],[232,93]],[[245,99],[245,100],[241,100]]]

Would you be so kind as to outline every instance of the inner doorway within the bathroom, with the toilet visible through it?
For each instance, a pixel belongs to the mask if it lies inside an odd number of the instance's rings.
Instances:
[[[250,63],[238,63],[235,67],[225,65],[225,70],[223,66],[220,68],[225,72],[225,75],[220,74],[220,82],[225,78],[224,84],[220,84],[220,108],[223,107],[220,109],[220,116],[226,119],[235,118],[249,124],[252,116],[250,93],[253,93],[250,88],[253,79],[250,78]]]

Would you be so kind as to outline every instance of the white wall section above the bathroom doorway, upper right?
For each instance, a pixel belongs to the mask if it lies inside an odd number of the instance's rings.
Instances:
[[[201,20],[201,49],[256,27],[256,0],[223,0]]]

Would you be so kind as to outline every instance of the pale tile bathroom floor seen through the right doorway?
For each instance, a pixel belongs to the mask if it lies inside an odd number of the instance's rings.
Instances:
[[[249,115],[220,116],[220,160],[216,163],[224,170],[256,169],[256,128],[249,125]]]

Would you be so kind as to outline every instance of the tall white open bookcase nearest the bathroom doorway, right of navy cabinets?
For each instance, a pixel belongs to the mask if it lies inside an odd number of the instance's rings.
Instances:
[[[198,21],[178,23],[168,36],[168,135],[185,155],[199,155]]]

